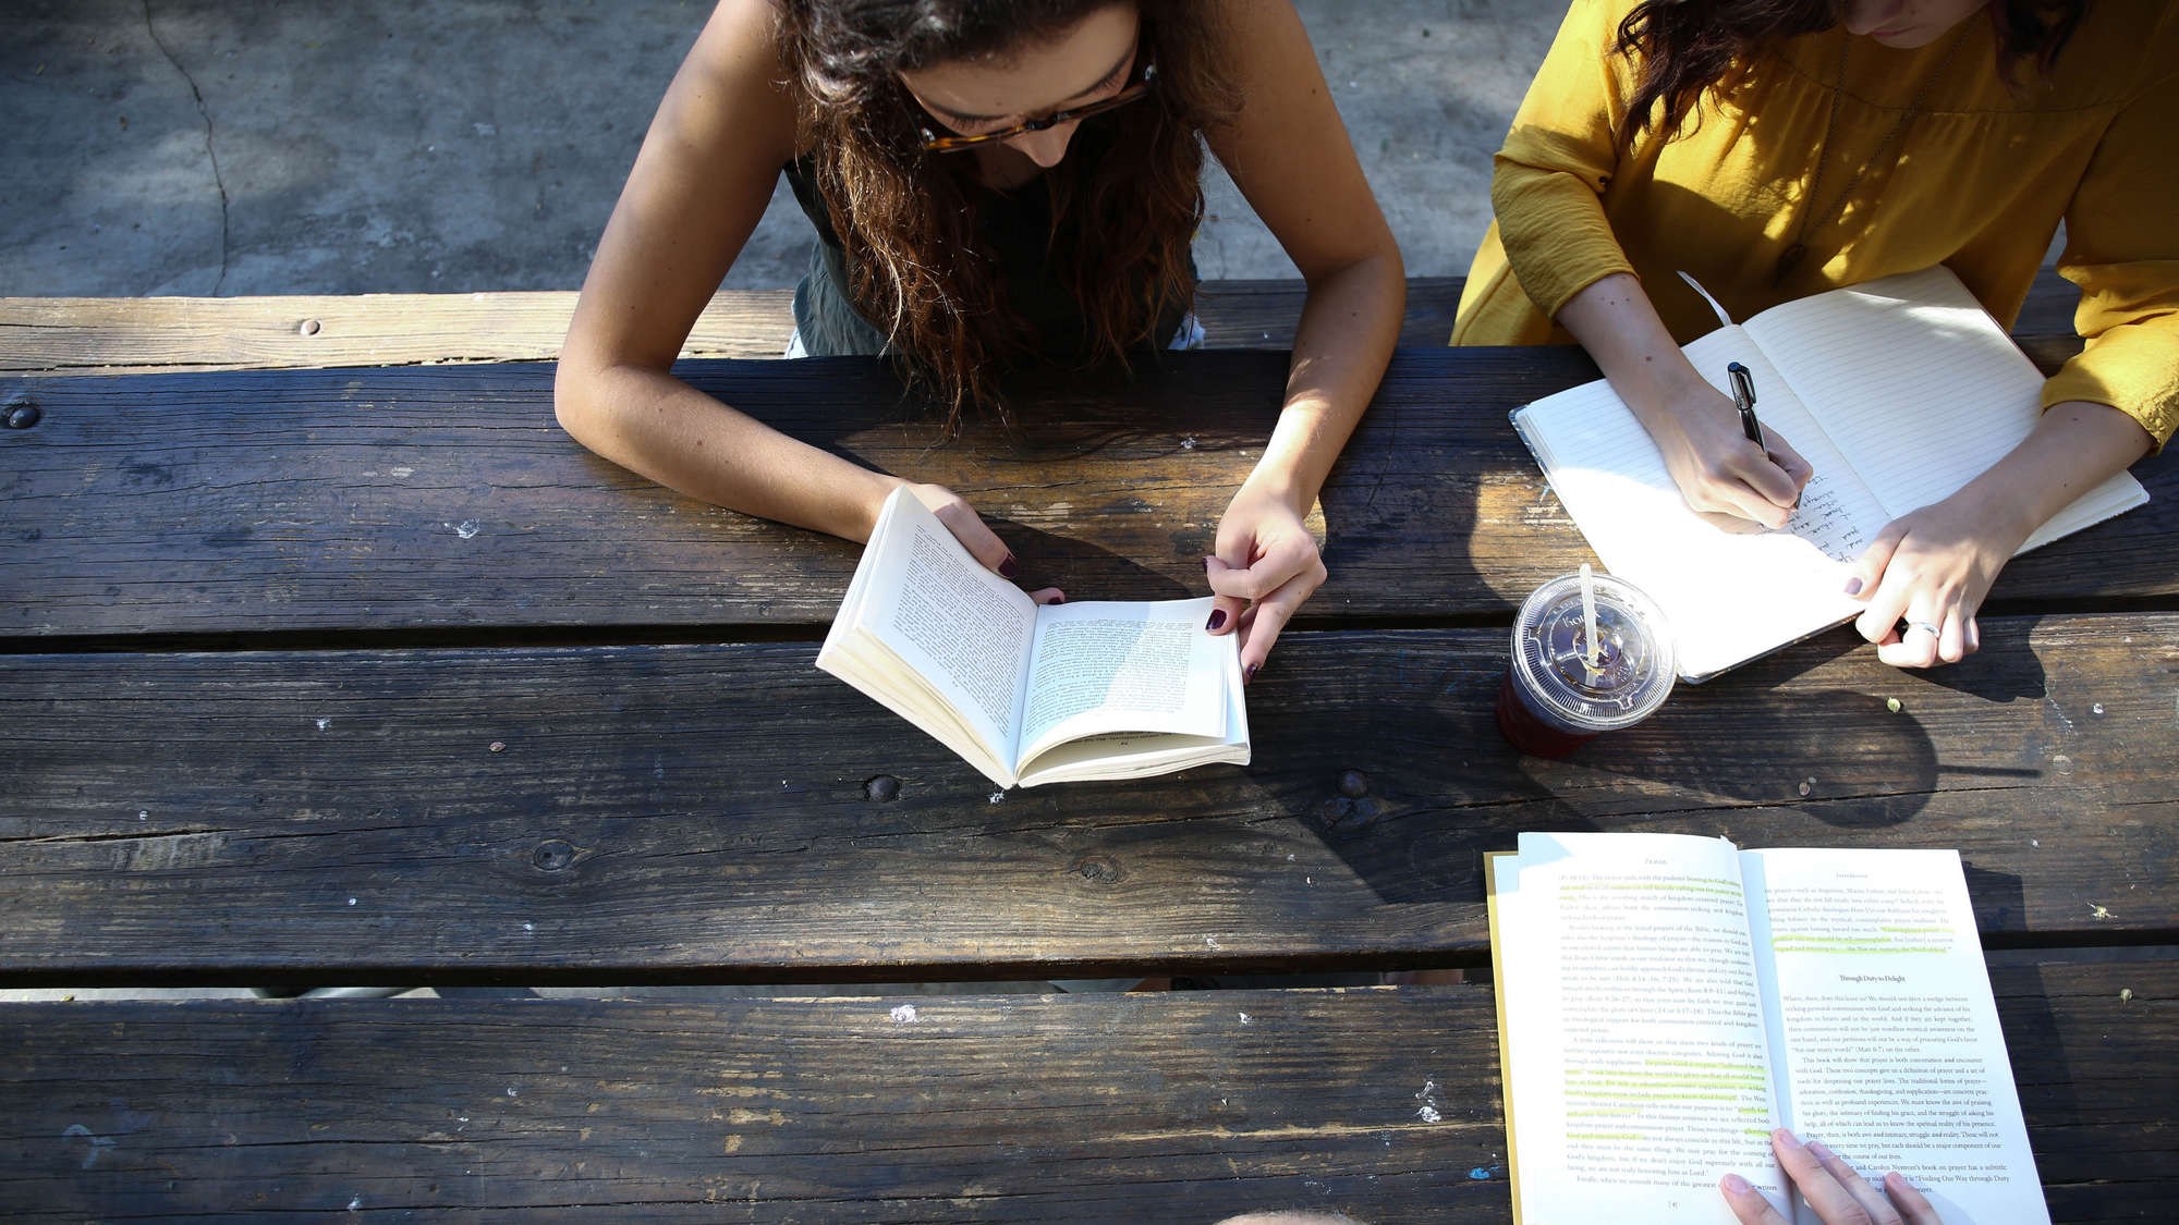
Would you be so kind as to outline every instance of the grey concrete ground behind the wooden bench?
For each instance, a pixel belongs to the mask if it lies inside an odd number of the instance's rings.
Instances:
[[[1419,277],[1462,275],[1560,2],[1299,0]],[[573,290],[691,0],[9,0],[0,296]],[[728,288],[784,288],[782,187]],[[1292,264],[1220,174],[1205,277]]]

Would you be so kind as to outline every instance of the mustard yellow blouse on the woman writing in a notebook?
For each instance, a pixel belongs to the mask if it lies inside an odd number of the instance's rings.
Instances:
[[[1621,157],[1634,72],[1610,46],[1628,9],[1632,0],[1573,0],[1497,155],[1497,222],[1469,268],[1453,344],[1567,344],[1573,338],[1551,316],[1610,272],[1641,277],[1684,344],[1717,316],[1673,275],[1682,268],[1732,318],[1748,318],[1941,262],[2011,327],[2064,220],[2057,270],[2081,286],[2074,327],[2087,344],[2044,384],[2044,408],[2107,403],[2159,447],[2170,438],[2179,4],[2098,0],[2050,78],[2022,63],[2013,87],[1996,70],[1981,15],[1918,50],[1839,28],[1787,39],[1748,68],[1732,98],[1715,107],[1706,98],[1700,126],[1671,142],[1652,126]],[[1894,120],[1924,89],[1876,163]],[[1826,140],[1835,92],[1839,116]],[[1819,168],[1809,253],[1774,288]]]

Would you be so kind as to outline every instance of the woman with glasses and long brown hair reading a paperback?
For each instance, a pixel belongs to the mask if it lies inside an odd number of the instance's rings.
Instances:
[[[1283,0],[723,0],[591,264],[560,423],[691,497],[865,541],[898,477],[669,373],[780,174],[819,235],[798,349],[891,353],[959,421],[998,405],[1007,368],[1185,344],[1205,146],[1307,281],[1277,427],[1205,562],[1209,630],[1242,630],[1253,674],[1325,578],[1303,517],[1405,303],[1399,248]],[[1013,575],[961,497],[911,488]]]

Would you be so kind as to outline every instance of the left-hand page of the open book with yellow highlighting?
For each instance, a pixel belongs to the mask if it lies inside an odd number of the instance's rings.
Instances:
[[[1493,870],[1521,1221],[1730,1223],[1726,1173],[1785,1203],[1732,846],[1525,833]]]

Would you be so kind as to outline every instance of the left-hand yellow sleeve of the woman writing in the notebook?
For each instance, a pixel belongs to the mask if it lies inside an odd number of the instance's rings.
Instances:
[[[1632,272],[1604,218],[1634,89],[1612,52],[1626,0],[1575,0],[1493,159],[1490,209],[1506,262],[1545,316],[1612,272]]]

